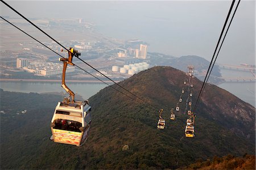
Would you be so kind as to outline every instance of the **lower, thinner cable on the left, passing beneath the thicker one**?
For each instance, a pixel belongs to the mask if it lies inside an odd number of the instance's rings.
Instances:
[[[15,26],[13,23],[9,22],[8,20],[6,20],[5,18],[3,18],[2,16],[0,16],[0,18],[3,19],[3,20],[5,20],[7,23],[11,24],[11,25],[14,26],[15,28],[17,28],[19,31],[22,31],[24,34],[26,34],[26,35],[29,36],[30,38],[34,39],[36,42],[42,44],[44,47],[46,47],[46,48],[48,48],[49,50],[51,50],[52,52],[56,53],[56,55],[58,55],[58,56],[62,57],[63,59],[65,59],[65,57],[61,56],[61,55],[60,55],[59,53],[57,53],[56,51],[53,51],[53,49],[47,47],[47,45],[45,45],[45,44],[43,44],[42,42],[40,42],[39,40],[35,39],[33,36],[27,34],[27,32],[21,30],[19,27]],[[74,64],[74,63],[72,63],[72,64]],[[103,82],[104,84],[110,86],[110,88],[113,88],[114,90],[117,90],[119,93],[121,93],[121,94],[123,94],[123,95],[129,97],[129,98],[132,99],[132,100],[134,100],[134,98],[131,98],[131,97],[128,96],[127,94],[125,94],[125,93],[121,92],[120,90],[114,88],[112,85],[109,85],[108,83],[104,82],[104,81],[101,80],[100,78],[98,78],[98,77],[94,76],[93,74],[91,74],[91,73],[85,71],[85,69],[82,69],[82,68],[79,67],[78,65],[74,64],[74,66],[76,66],[77,68],[81,69],[82,71],[88,73],[90,76],[96,78],[97,80]],[[135,100],[135,101],[137,101],[137,100]],[[139,102],[139,101],[137,101],[137,102]],[[139,103],[141,103],[141,102],[139,102]],[[142,104],[145,105],[144,103],[142,103]],[[147,105],[146,105],[146,106],[147,106]],[[147,107],[149,107],[150,109],[154,110],[154,108],[152,108],[152,107],[150,107],[150,106],[147,106]]]

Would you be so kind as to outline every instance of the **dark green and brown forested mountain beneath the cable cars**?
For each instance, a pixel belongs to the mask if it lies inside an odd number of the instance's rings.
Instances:
[[[153,67],[119,82],[164,109],[164,130],[156,128],[158,110],[117,85],[134,99],[111,87],[100,90],[89,99],[92,130],[82,147],[49,140],[51,117],[62,97],[1,91],[1,169],[175,169],[213,156],[255,154],[255,108],[215,85],[205,88],[197,107],[195,138],[184,137],[185,103],[175,121],[169,118],[185,77],[171,67]],[[192,82],[193,105],[202,82]],[[27,113],[16,114],[24,109]]]

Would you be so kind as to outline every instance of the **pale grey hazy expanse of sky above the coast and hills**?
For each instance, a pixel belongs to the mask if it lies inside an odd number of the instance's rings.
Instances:
[[[27,17],[84,18],[106,36],[147,42],[148,51],[210,60],[232,1],[6,2]],[[18,16],[3,3],[0,14]],[[255,63],[254,1],[241,1],[217,63]]]

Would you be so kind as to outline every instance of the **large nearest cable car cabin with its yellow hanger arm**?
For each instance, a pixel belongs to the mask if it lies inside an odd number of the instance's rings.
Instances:
[[[63,61],[62,87],[69,93],[69,98],[64,98],[55,108],[51,121],[51,140],[56,143],[72,144],[82,146],[89,135],[91,126],[91,116],[89,101],[75,101],[75,94],[65,85],[65,72],[67,65],[72,63],[73,56],[81,55],[79,52],[70,48],[68,59]]]

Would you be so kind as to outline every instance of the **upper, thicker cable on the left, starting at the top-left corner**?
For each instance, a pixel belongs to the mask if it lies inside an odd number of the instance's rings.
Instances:
[[[41,32],[43,32],[45,35],[47,35],[49,38],[51,38],[54,42],[56,42],[57,44],[59,44],[61,47],[63,47],[64,49],[66,49],[67,51],[69,51],[69,49],[65,48],[63,45],[61,45],[59,42],[57,42],[55,39],[53,39],[51,36],[49,36],[46,32],[44,32],[41,28],[39,28],[38,26],[36,26],[34,23],[32,23],[29,19],[27,19],[25,16],[23,16],[22,14],[20,14],[18,11],[16,11],[13,7],[11,7],[10,5],[8,5],[5,1],[2,1],[2,3],[4,3],[6,6],[8,6],[11,10],[15,11],[16,14],[22,16],[22,18],[24,18],[25,20],[27,20],[27,22],[31,23],[34,27],[38,28],[38,30],[40,30]],[[110,81],[114,82],[114,84],[118,85],[119,87],[121,87],[122,89],[126,90],[126,92],[129,92],[130,94],[132,94],[133,96],[135,96],[136,98],[140,99],[141,101],[147,103],[147,105],[150,105],[151,107],[154,107],[156,110],[157,107],[151,105],[150,103],[148,103],[147,101],[145,101],[144,99],[136,96],[135,94],[131,93],[129,90],[123,88],[121,85],[117,84],[115,81],[113,81],[111,78],[109,78],[108,76],[106,76],[105,74],[101,73],[100,71],[98,71],[96,68],[92,67],[92,65],[86,63],[84,60],[80,59],[79,57],[77,57],[77,59],[81,60],[83,63],[85,63],[86,65],[88,65],[89,67],[93,68],[95,71],[97,71],[98,73],[100,73],[102,76],[108,78]]]

